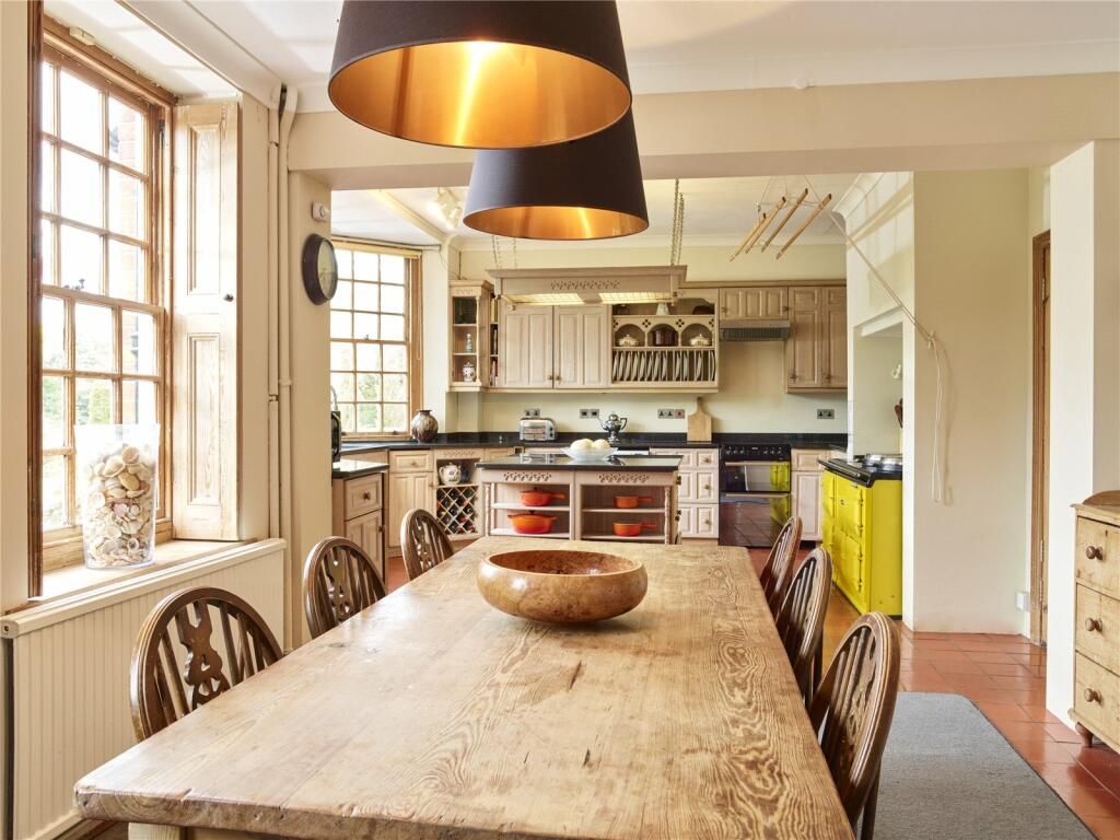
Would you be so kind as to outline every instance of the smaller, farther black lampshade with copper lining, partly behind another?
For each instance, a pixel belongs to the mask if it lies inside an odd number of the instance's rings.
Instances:
[[[598,134],[475,155],[463,223],[498,236],[600,240],[650,226],[634,116]]]

